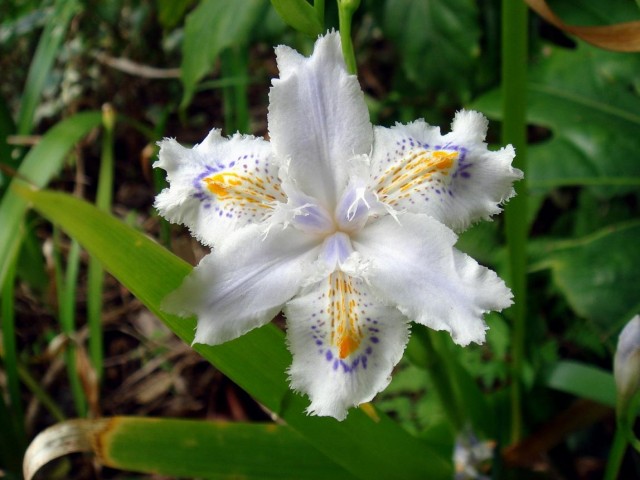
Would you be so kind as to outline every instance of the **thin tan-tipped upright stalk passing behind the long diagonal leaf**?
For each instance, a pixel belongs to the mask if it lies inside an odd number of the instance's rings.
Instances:
[[[96,207],[105,212],[111,210],[113,198],[113,130],[116,115],[110,105],[102,109],[102,154],[100,158],[100,172],[98,176],[98,190],[96,192]],[[87,267],[87,324],[89,327],[89,358],[98,381],[103,374],[103,335],[102,335],[102,290],[104,285],[104,271],[95,257],[89,258]]]

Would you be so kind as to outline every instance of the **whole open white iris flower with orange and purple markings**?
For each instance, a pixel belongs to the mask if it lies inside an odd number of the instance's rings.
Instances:
[[[170,187],[156,207],[212,247],[164,308],[195,314],[194,343],[210,345],[284,310],[292,388],[309,413],[341,420],[389,383],[410,321],[480,343],[483,314],[511,304],[455,232],[498,213],[522,174],[511,146],[487,149],[476,112],[446,135],[423,120],[373,127],[337,33],[308,58],[276,57],[269,141],[160,142]]]

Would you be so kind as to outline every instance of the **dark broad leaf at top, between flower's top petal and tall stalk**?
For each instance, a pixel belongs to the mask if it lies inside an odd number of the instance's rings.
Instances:
[[[477,17],[473,0],[387,0],[383,29],[413,83],[466,94],[480,53]]]

